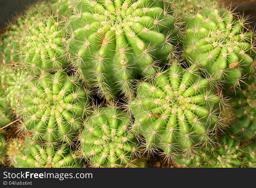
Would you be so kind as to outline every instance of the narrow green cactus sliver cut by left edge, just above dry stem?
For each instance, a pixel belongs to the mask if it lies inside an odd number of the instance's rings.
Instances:
[[[11,121],[10,106],[7,102],[4,90],[0,82],[0,128],[6,126]]]

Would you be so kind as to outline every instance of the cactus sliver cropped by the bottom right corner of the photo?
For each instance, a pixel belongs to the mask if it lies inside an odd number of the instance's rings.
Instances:
[[[249,144],[245,149],[242,167],[256,168],[256,143]]]

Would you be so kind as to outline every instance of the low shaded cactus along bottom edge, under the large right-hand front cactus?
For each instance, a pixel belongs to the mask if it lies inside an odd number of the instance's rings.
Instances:
[[[229,135],[222,135],[216,141],[217,146],[207,146],[201,149],[193,157],[177,157],[175,162],[184,167],[206,168],[237,168],[242,164],[243,150],[239,140]]]

